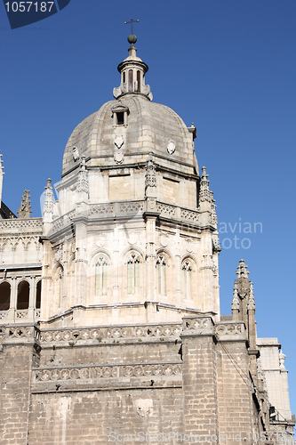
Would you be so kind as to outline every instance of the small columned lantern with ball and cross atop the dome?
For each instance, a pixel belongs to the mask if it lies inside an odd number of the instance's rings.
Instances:
[[[132,20],[132,23],[134,21],[138,20]],[[149,101],[152,101],[153,96],[150,92],[150,86],[145,85],[145,74],[148,71],[148,65],[136,55],[137,49],[134,44],[137,42],[137,37],[131,34],[127,37],[127,41],[131,44],[128,50],[129,56],[119,63],[117,67],[121,74],[121,82],[117,88],[113,89],[113,95],[118,99],[124,94],[141,94],[142,96],[146,96]]]

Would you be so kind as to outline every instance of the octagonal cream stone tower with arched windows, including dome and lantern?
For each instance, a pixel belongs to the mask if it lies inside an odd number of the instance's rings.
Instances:
[[[59,200],[45,187],[41,318],[51,326],[219,318],[217,218],[196,127],[152,101],[128,41],[115,100],[68,139]]]

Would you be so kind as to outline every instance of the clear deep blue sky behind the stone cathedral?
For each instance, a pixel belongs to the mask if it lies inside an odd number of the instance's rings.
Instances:
[[[124,21],[131,18],[140,19],[136,46],[154,101],[197,127],[198,162],[207,166],[220,227],[227,228],[220,233],[221,312],[230,312],[244,258],[258,336],[283,344],[295,413],[294,0],[71,0],[14,30],[0,4],[4,203],[16,213],[28,189],[40,216],[40,195],[48,177],[60,181],[69,135],[119,85],[116,67],[130,33]],[[245,223],[252,233],[244,233]]]

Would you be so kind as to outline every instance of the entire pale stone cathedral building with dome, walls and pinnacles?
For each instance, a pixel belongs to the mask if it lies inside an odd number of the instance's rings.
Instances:
[[[42,218],[28,190],[19,218],[1,207],[1,444],[292,445],[284,354],[257,338],[243,260],[220,316],[196,128],[152,102],[134,38],[116,100],[68,140],[59,200],[49,179]]]

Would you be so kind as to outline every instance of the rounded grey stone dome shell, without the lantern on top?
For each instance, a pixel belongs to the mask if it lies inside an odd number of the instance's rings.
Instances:
[[[64,153],[63,174],[79,165],[83,156],[91,166],[115,164],[120,148],[123,164],[139,162],[153,152],[156,157],[193,165],[194,130],[169,107],[149,101],[144,94],[126,93],[76,126]]]

